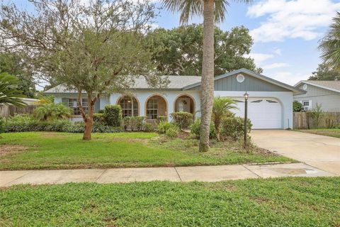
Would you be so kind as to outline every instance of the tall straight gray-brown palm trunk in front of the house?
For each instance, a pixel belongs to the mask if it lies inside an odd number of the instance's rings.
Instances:
[[[212,100],[214,98],[214,0],[203,1],[203,62],[202,84],[200,86],[200,151],[209,150],[210,121]]]

